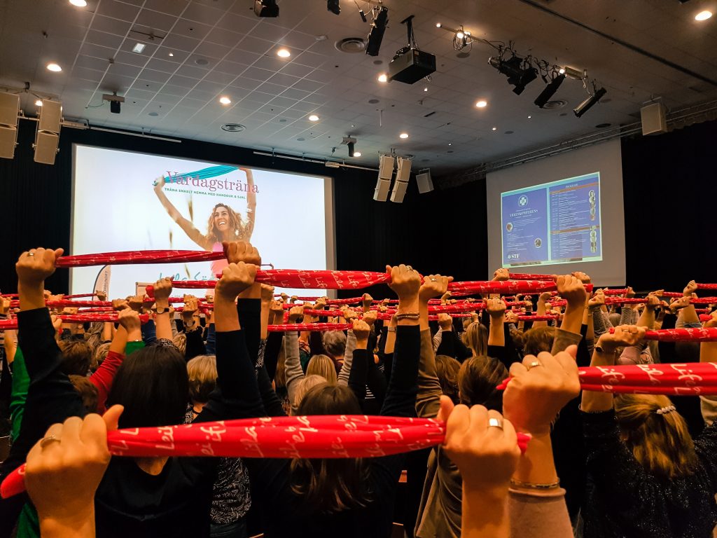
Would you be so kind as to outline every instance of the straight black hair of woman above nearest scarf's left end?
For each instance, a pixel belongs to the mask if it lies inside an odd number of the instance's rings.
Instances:
[[[128,355],[107,406],[124,405],[120,428],[181,424],[189,394],[186,362],[174,346],[154,345]]]

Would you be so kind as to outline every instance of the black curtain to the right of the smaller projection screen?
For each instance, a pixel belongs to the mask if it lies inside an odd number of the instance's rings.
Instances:
[[[717,280],[717,121],[622,141],[627,283],[682,291]]]

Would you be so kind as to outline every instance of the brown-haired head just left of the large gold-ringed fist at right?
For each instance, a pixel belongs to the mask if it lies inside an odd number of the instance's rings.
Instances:
[[[496,359],[485,356],[467,359],[458,372],[460,402],[503,412],[503,391],[495,387],[506,377],[508,369]]]

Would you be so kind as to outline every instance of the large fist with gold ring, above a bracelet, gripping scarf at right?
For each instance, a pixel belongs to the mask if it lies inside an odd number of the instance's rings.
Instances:
[[[511,381],[503,393],[503,412],[521,432],[550,433],[550,425],[567,402],[580,392],[576,346],[555,356],[543,351],[511,365]]]

